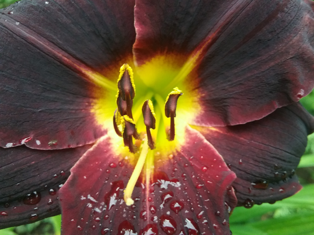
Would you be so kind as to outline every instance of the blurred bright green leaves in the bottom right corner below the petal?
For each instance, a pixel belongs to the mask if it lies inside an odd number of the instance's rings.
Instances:
[[[230,216],[233,235],[314,235],[314,185],[270,205],[237,207]]]

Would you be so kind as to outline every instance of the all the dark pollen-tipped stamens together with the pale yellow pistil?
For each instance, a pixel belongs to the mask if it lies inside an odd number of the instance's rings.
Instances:
[[[118,90],[116,94],[117,109],[113,116],[113,126],[116,134],[123,138],[124,146],[127,146],[131,153],[138,152],[137,146],[133,144],[133,138],[141,140],[143,137],[137,132],[136,123],[133,120],[132,106],[135,97],[135,85],[133,79],[133,70],[128,64],[124,64],[120,68],[118,78]],[[181,91],[175,87],[171,91],[165,101],[165,116],[170,118],[170,129],[167,139],[173,141],[175,138],[175,124],[177,100],[182,95]],[[124,191],[124,201],[127,205],[134,203],[131,198],[132,191],[143,169],[146,157],[151,150],[155,149],[154,140],[150,133],[150,129],[155,129],[156,115],[154,112],[153,102],[148,99],[143,102],[142,113],[144,125],[146,126],[146,137],[140,150],[138,162]],[[119,128],[119,126],[121,126]],[[149,146],[149,148],[148,148]]]

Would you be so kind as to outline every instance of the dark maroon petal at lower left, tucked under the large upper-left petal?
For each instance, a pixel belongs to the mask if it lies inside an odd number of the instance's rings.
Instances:
[[[59,188],[90,147],[49,151],[0,148],[0,229],[59,214]]]

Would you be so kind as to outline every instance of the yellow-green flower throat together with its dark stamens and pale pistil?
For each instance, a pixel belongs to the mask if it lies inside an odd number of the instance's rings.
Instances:
[[[115,130],[116,134],[110,133],[116,143],[114,151],[135,166],[124,191],[127,205],[133,204],[131,195],[141,172],[143,183],[148,185],[156,161],[180,150],[185,126],[200,111],[197,94],[184,81],[191,68],[171,69],[164,63],[164,58],[155,58],[135,67],[135,72],[123,64],[118,89],[113,92],[111,82],[106,80],[110,86],[106,86],[106,93],[94,106],[97,121],[104,128]],[[182,87],[186,94],[173,85]]]

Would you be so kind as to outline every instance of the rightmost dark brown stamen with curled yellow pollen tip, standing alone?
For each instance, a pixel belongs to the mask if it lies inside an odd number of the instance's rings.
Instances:
[[[179,90],[178,87],[173,88],[173,91],[169,93],[169,95],[166,98],[165,103],[165,115],[167,118],[170,119],[170,132],[168,135],[168,140],[172,141],[175,139],[175,120],[176,117],[176,105],[178,98],[183,95],[181,90]]]

